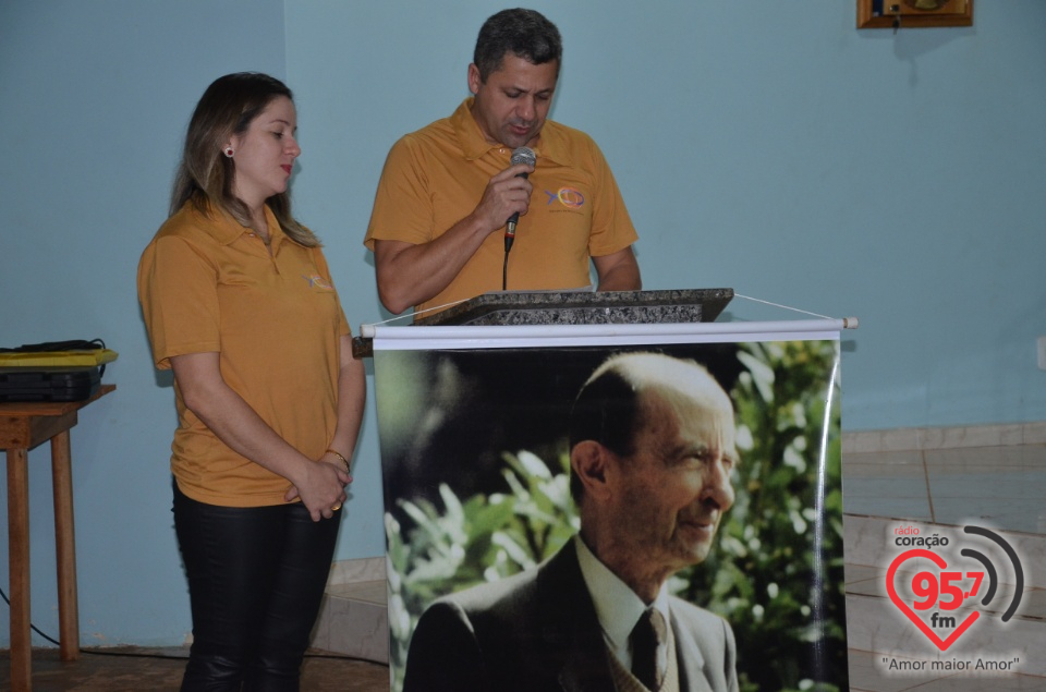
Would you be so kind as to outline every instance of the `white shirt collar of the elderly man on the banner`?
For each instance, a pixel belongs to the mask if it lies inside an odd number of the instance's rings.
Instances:
[[[581,574],[588,587],[588,594],[592,596],[592,603],[596,608],[596,617],[599,618],[604,636],[619,658],[622,660],[631,659],[631,655],[628,654],[629,635],[646,610],[646,604],[635,595],[635,592],[628,584],[599,561],[599,558],[588,549],[580,535],[574,536],[574,543],[577,546],[577,563],[581,566]],[[660,610],[665,617],[665,623],[669,624],[668,587],[666,585],[661,585],[653,606]],[[669,624],[669,627],[671,626]],[[625,653],[628,658],[622,657],[621,653]]]

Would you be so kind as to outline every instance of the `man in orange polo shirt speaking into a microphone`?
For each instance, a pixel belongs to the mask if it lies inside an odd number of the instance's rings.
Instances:
[[[637,235],[606,159],[585,133],[546,121],[561,57],[542,14],[495,14],[469,65],[473,96],[393,145],[364,241],[386,308],[431,314],[502,289],[583,290],[589,259],[597,290],[642,288]],[[536,165],[512,165],[518,147]],[[515,214],[510,252],[499,231]]]

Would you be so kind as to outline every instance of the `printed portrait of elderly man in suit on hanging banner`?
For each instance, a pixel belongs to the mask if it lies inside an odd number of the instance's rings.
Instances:
[[[375,353],[396,692],[848,690],[834,340]]]

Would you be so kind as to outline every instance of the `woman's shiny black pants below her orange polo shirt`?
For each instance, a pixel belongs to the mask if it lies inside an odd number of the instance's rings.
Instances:
[[[174,484],[193,645],[182,692],[296,692],[341,512],[314,522],[301,502],[235,508]]]

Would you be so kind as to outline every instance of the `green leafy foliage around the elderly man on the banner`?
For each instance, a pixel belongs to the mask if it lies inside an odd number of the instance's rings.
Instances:
[[[723,616],[744,692],[848,690],[838,343],[744,343],[731,397],[742,463],[717,549],[670,588]],[[565,449],[503,453],[507,491],[386,514],[393,692],[435,598],[535,567],[579,529]]]

